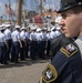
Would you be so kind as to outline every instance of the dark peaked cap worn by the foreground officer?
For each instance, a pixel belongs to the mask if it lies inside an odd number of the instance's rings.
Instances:
[[[61,0],[60,2],[60,9],[57,10],[58,13],[65,11],[73,7],[80,7],[82,6],[82,0]]]

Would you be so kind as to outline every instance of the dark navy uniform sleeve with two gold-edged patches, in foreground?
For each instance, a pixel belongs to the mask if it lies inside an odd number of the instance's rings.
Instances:
[[[39,83],[80,83],[82,75],[76,77],[76,74],[81,74],[82,70],[80,63],[81,59],[78,48],[73,44],[63,46],[42,72]],[[75,73],[73,73],[74,70]],[[74,82],[76,80],[74,77],[78,79],[78,82]]]

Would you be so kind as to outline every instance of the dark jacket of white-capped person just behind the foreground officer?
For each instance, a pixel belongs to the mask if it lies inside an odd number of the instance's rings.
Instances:
[[[71,38],[66,38],[64,35],[64,33],[60,34],[59,37],[54,38],[52,41],[51,41],[51,45],[50,45],[50,53],[49,55],[51,56],[51,60],[52,58],[57,54],[57,52],[64,45],[73,42],[74,40],[71,39]]]

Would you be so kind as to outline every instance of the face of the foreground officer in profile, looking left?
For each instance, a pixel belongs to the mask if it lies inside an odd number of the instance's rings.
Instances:
[[[66,10],[61,13],[62,20],[62,32],[68,38],[79,37],[82,28],[82,15],[81,13],[74,13],[73,10]]]

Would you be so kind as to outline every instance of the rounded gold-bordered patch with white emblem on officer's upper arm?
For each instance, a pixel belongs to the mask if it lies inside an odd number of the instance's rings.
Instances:
[[[45,83],[50,83],[53,82],[57,77],[58,77],[57,69],[52,64],[49,64],[42,73],[42,80]]]

